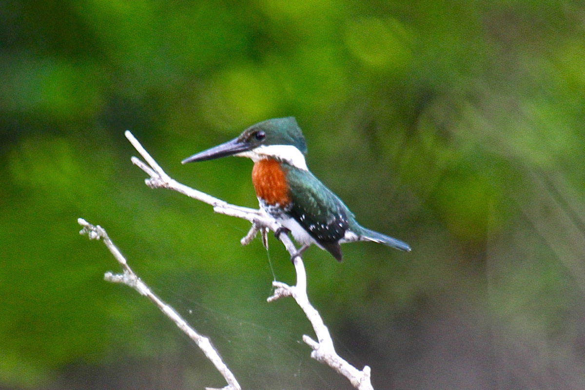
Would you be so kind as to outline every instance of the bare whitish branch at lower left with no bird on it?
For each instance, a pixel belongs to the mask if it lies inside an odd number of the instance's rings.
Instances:
[[[87,234],[91,240],[103,239],[105,246],[112,253],[113,257],[120,265],[122,265],[122,274],[112,274],[112,272],[106,272],[104,279],[109,282],[121,283],[127,285],[128,287],[132,287],[140,295],[146,296],[148,299],[150,299],[150,301],[152,301],[154,305],[156,305],[167,317],[173,320],[179,329],[187,334],[191,340],[195,341],[195,344],[197,344],[205,356],[207,356],[211,363],[215,365],[215,368],[223,375],[223,378],[225,378],[225,381],[228,385],[223,387],[222,390],[241,390],[242,388],[236,380],[236,377],[229,370],[228,366],[223,363],[221,356],[219,356],[218,351],[214,348],[214,346],[212,346],[211,341],[209,341],[207,337],[197,333],[191,326],[189,326],[187,321],[185,321],[183,317],[179,315],[179,313],[177,313],[173,308],[171,308],[171,306],[164,303],[157,295],[155,295],[150,290],[150,288],[134,273],[134,271],[132,271],[132,268],[130,268],[128,265],[126,258],[113,244],[105,229],[99,225],[92,225],[82,218],[78,218],[77,223],[83,227],[83,229],[80,231],[80,234]],[[219,389],[207,388],[207,390]]]

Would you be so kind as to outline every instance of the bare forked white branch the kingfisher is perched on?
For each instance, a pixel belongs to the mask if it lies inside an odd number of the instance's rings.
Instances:
[[[231,205],[221,199],[215,198],[214,196],[205,194],[204,192],[197,191],[196,189],[187,187],[186,185],[180,184],[179,182],[171,179],[160,167],[159,164],[154,161],[154,158],[142,147],[142,145],[136,140],[136,138],[126,131],[126,138],[132,143],[135,149],[140,153],[140,156],[144,158],[145,164],[136,157],[132,157],[132,163],[137,165],[140,169],[146,172],[150,178],[146,179],[146,184],[151,188],[167,188],[173,189],[174,191],[180,192],[181,194],[190,196],[190,198],[197,199],[199,201],[208,203],[213,206],[214,212],[222,213],[225,215],[233,216],[236,218],[242,218],[252,223],[250,232],[242,239],[242,244],[249,243],[257,234],[262,233],[263,243],[267,246],[266,234],[269,230],[276,232],[280,226],[276,220],[261,212],[261,210],[250,209],[246,207]],[[149,167],[150,165],[150,167]],[[282,282],[273,282],[274,294],[268,298],[269,302],[276,301],[276,299],[283,296],[291,296],[295,299],[300,308],[305,312],[307,319],[311,322],[317,341],[311,339],[311,337],[305,335],[303,340],[312,348],[311,357],[321,363],[325,363],[332,367],[339,374],[345,376],[352,385],[359,390],[373,390],[370,381],[370,367],[366,365],[363,370],[358,370],[353,365],[347,363],[346,360],[341,358],[333,347],[333,340],[331,334],[325,326],[319,312],[311,305],[307,295],[307,273],[305,272],[305,265],[302,263],[302,258],[298,254],[298,250],[290,237],[286,234],[280,234],[278,237],[283,243],[284,247],[290,253],[292,263],[294,264],[295,271],[297,273],[297,284],[289,286]],[[228,382],[229,383],[229,382]]]

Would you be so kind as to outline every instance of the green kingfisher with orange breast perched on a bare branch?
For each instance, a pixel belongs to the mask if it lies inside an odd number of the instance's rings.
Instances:
[[[290,116],[256,123],[235,139],[181,163],[224,156],[251,158],[252,183],[260,210],[302,244],[297,254],[316,244],[341,261],[339,244],[353,241],[374,241],[410,251],[407,243],[359,225],[345,203],[308,170],[305,154],[305,137]],[[278,237],[280,233],[275,234]]]

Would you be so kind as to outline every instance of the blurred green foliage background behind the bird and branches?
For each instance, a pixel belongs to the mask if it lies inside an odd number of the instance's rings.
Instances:
[[[308,164],[364,226],[411,244],[307,251],[309,295],[377,389],[585,383],[582,1],[0,3],[0,388],[223,386],[77,218],[211,337],[249,389],[349,389],[311,360],[271,239],[144,186],[257,206],[250,161],[180,165],[296,116]]]

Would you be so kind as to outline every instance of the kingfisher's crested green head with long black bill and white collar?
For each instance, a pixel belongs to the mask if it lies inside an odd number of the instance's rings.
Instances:
[[[297,120],[288,116],[256,123],[233,140],[187,157],[181,163],[238,156],[252,158],[253,161],[274,158],[307,170],[304,156],[306,153],[307,143]]]

